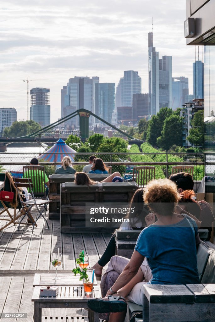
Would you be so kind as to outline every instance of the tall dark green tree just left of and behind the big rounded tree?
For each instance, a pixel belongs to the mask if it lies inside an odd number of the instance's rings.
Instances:
[[[146,141],[152,146],[156,146],[157,138],[161,136],[161,131],[164,126],[164,120],[173,113],[172,109],[162,107],[157,115],[153,115],[149,120]]]

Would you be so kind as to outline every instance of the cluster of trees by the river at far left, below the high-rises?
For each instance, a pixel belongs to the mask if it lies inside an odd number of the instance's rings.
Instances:
[[[40,124],[33,120],[15,121],[9,128],[4,129],[5,137],[23,137],[41,129]]]

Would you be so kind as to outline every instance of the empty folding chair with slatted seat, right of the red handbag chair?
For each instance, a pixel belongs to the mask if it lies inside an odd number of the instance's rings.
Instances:
[[[13,180],[14,180],[14,185],[15,185],[17,192],[18,192],[20,204],[21,204],[23,211],[24,211],[24,215],[27,215],[27,217],[30,219],[30,221],[33,225],[33,229],[36,225],[37,220],[40,218],[40,216],[43,217],[43,219],[45,220],[47,227],[49,229],[49,224],[48,224],[47,220],[45,219],[45,215],[46,215],[47,205],[49,204],[50,201],[46,200],[46,199],[35,199],[31,178],[22,178],[22,179],[13,178]],[[28,200],[28,201],[24,201],[23,194],[19,192],[18,187],[26,187],[28,189],[28,191],[30,191],[30,193],[32,195],[32,199]],[[35,208],[33,209],[33,207],[35,207]],[[36,220],[33,219],[33,217],[32,217],[33,214],[36,214]],[[23,216],[22,220],[20,221],[20,224],[22,223],[23,219],[24,219],[24,216]],[[19,230],[19,227],[18,227],[18,230]]]

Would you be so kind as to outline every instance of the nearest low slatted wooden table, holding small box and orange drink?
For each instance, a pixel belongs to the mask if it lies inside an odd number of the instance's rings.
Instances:
[[[57,297],[39,296],[40,286],[35,286],[32,296],[34,302],[34,322],[42,321],[42,308],[88,308],[89,298],[101,297],[99,286],[93,286],[93,294],[86,295],[83,286],[59,286]],[[98,322],[98,313],[89,309],[89,322]]]

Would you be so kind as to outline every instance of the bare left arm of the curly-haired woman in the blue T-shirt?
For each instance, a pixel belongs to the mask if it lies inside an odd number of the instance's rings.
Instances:
[[[111,286],[113,292],[117,293],[119,289],[126,286],[126,284],[128,284],[136,276],[144,258],[145,257],[138,253],[138,251],[133,252],[129,263],[126,265],[122,273],[119,275],[114,285]],[[107,295],[110,294],[113,293],[111,291],[108,291]]]

